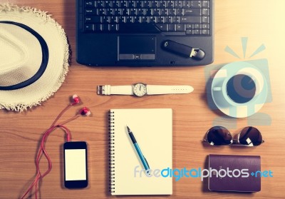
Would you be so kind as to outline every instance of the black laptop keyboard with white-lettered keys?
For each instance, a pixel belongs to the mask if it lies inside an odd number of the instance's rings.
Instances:
[[[85,32],[165,32],[172,35],[210,34],[210,0],[89,1],[84,0]]]

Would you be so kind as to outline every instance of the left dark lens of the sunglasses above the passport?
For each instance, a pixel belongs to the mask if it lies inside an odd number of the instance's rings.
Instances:
[[[229,145],[232,143],[232,135],[227,128],[214,126],[207,133],[207,142],[210,145]]]

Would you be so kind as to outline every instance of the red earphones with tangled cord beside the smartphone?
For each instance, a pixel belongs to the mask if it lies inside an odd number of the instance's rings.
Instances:
[[[52,167],[51,158],[49,157],[48,153],[46,152],[46,148],[45,148],[46,138],[56,128],[61,128],[66,133],[66,141],[69,142],[69,141],[71,141],[71,131],[69,131],[69,129],[63,125],[70,122],[70,121],[75,120],[76,118],[78,118],[80,116],[90,116],[90,114],[91,114],[90,110],[87,107],[83,107],[83,108],[81,108],[81,110],[78,113],[76,113],[76,116],[73,116],[72,118],[68,119],[67,121],[63,121],[61,123],[56,124],[57,121],[59,120],[59,118],[61,118],[61,116],[63,115],[63,113],[65,113],[68,110],[68,108],[71,108],[71,106],[74,106],[74,105],[77,105],[78,103],[80,103],[81,99],[75,94],[72,96],[72,101],[73,101],[72,103],[68,104],[68,106],[66,106],[66,108],[64,108],[63,111],[61,111],[61,113],[58,114],[56,119],[51,124],[51,127],[48,128],[48,130],[43,134],[43,138],[41,139],[41,145],[40,145],[40,148],[38,149],[38,155],[36,157],[36,178],[35,178],[35,180],[33,180],[33,183],[31,183],[28,190],[26,190],[26,193],[21,197],[22,199],[33,189],[33,186],[35,186],[35,188],[36,188],[35,196],[37,198],[38,181],[43,179],[43,177],[46,176],[51,171],[51,167]],[[42,155],[44,155],[46,157],[46,160],[48,160],[48,170],[46,170],[46,172],[43,174],[41,173],[41,170],[39,167]]]

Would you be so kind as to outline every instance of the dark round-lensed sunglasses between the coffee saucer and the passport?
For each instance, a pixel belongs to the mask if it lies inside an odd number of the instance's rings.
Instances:
[[[242,146],[259,146],[264,143],[260,131],[252,126],[247,126],[240,131],[237,140],[234,140],[232,134],[223,126],[214,126],[210,128],[205,140],[210,145],[242,145]]]

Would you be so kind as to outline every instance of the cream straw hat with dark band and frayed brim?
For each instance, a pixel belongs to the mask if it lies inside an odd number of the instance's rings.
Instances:
[[[46,101],[68,72],[62,27],[44,11],[0,4],[0,109],[24,111]]]

